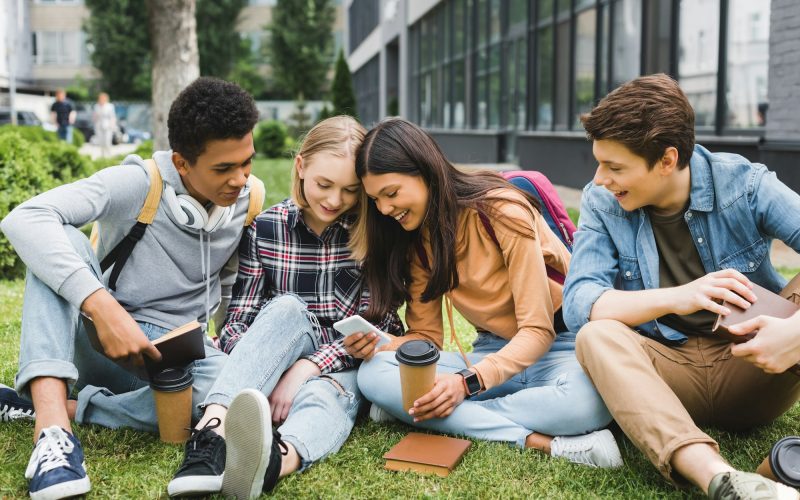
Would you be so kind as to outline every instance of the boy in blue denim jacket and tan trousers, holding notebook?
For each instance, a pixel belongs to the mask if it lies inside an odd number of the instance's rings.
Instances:
[[[712,498],[798,498],[736,471],[698,425],[765,424],[800,396],[800,378],[767,373],[711,331],[723,300],[749,307],[751,283],[785,286],[769,248],[800,251],[800,220],[785,216],[800,196],[763,165],[695,145],[694,111],[666,75],[622,85],[582,121],[598,167],[564,289],[578,360],[668,479]]]

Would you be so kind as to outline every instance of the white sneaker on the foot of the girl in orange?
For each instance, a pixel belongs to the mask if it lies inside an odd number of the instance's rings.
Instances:
[[[583,436],[557,436],[550,443],[550,454],[589,467],[613,468],[623,465],[617,442],[608,429]]]

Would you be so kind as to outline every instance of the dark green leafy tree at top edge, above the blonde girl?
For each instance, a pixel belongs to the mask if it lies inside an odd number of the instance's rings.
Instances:
[[[335,19],[331,0],[278,0],[272,9],[272,68],[292,98],[316,99],[326,87]]]

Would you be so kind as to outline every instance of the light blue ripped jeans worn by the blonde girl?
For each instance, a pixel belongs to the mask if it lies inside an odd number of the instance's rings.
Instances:
[[[269,396],[281,375],[318,347],[305,304],[294,295],[273,298],[231,351],[203,405],[227,408],[242,389]],[[312,377],[297,391],[278,432],[300,455],[301,471],[339,451],[350,435],[361,404],[356,374],[350,369]]]

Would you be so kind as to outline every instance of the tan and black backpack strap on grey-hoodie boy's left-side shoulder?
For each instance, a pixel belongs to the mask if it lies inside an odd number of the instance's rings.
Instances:
[[[161,202],[161,191],[164,188],[164,181],[161,179],[161,172],[158,171],[158,165],[156,165],[155,161],[150,159],[145,160],[145,167],[147,168],[147,177],[150,180],[150,189],[147,191],[147,197],[144,200],[142,209],[139,211],[139,216],[136,217],[136,224],[133,225],[122,241],[120,241],[100,263],[100,269],[103,272],[106,272],[109,267],[114,266],[108,278],[108,287],[112,290],[117,289],[117,279],[122,272],[122,268],[125,267],[128,257],[131,256],[133,247],[135,247],[139,240],[142,239],[142,236],[144,236],[147,226],[153,223],[153,219],[155,219],[156,212],[158,211],[158,205]],[[99,232],[99,226],[97,222],[95,222],[92,228],[92,235],[95,235],[97,232]],[[95,238],[95,240],[97,240],[97,238]],[[93,243],[93,246],[96,250],[96,241]]]

